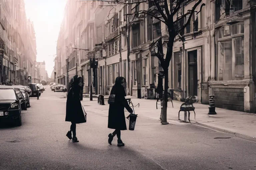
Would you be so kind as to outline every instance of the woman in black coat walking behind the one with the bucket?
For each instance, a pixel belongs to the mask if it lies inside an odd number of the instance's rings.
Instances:
[[[80,101],[81,86],[83,85],[82,77],[75,75],[70,81],[71,88],[67,95],[66,120],[71,122],[70,130],[66,134],[72,142],[79,142],[76,137],[76,124],[85,123],[85,115]],[[73,133],[73,137],[72,137]]]

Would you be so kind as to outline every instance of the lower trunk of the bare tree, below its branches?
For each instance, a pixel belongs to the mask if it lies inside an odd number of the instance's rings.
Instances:
[[[164,68],[164,96],[162,100],[160,120],[163,125],[169,124],[167,122],[167,103],[168,103],[168,67]]]

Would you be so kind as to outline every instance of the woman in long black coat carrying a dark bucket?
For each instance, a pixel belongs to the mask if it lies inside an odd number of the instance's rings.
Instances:
[[[125,78],[117,77],[115,80],[115,85],[112,87],[110,92],[110,96],[115,95],[114,99],[112,98],[113,103],[110,103],[108,110],[108,128],[115,129],[113,133],[108,135],[108,143],[110,145],[112,145],[111,142],[114,136],[117,135],[117,146],[124,146],[124,143],[121,140],[121,130],[127,130],[124,108],[126,108],[129,113],[133,113],[132,108],[129,106],[127,100],[125,99],[125,87]]]

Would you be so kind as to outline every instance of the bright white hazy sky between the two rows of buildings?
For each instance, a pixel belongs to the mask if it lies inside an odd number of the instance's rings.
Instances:
[[[37,57],[45,61],[48,75],[51,76],[60,25],[67,0],[24,0],[27,19],[34,23],[36,32]],[[50,55],[50,56],[49,56]]]

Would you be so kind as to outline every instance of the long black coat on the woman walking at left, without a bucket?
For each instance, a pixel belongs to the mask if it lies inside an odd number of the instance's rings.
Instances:
[[[85,115],[80,101],[81,87],[76,85],[71,87],[67,96],[66,121],[75,124],[85,123]]]

